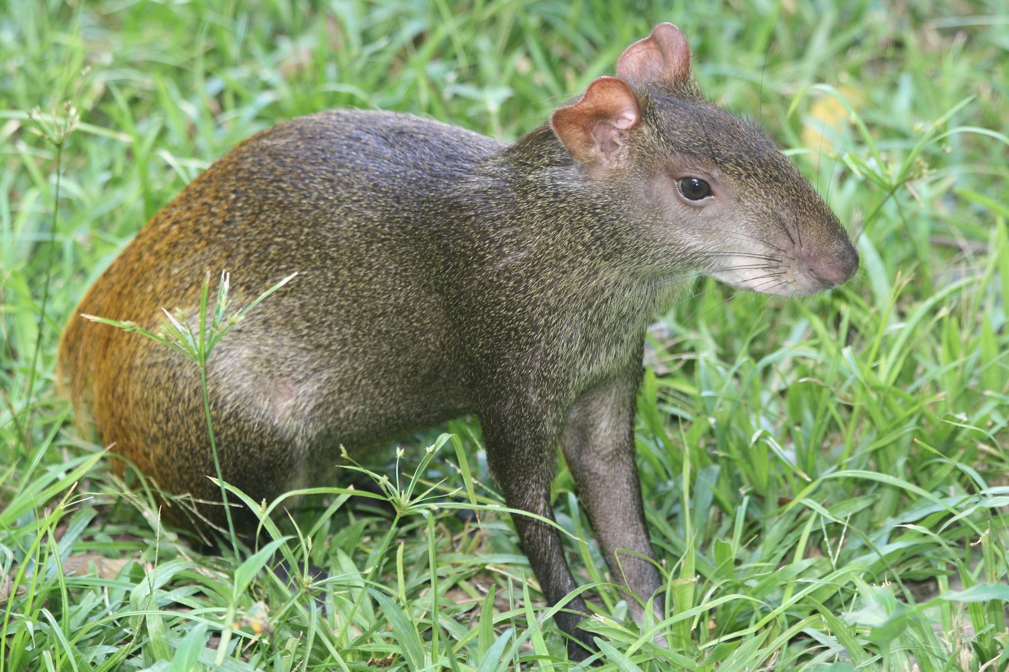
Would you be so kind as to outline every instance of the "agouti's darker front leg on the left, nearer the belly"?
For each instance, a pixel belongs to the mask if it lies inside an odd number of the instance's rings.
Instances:
[[[487,464],[504,495],[506,504],[554,520],[550,483],[557,458],[558,428],[543,426],[553,423],[535,420],[528,407],[524,411],[509,404],[494,406],[493,410],[480,414],[480,426]],[[551,606],[556,604],[577,587],[564,560],[560,535],[556,528],[535,518],[514,515],[512,520],[543,595]],[[569,612],[588,614],[588,608],[578,596],[568,601],[565,610],[554,616],[554,623],[574,638],[568,640],[568,657],[582,661],[596,650],[596,646],[591,633],[575,628],[582,617]]]

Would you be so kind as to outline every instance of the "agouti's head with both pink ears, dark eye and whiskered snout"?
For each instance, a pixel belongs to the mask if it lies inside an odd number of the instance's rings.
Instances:
[[[579,179],[631,194],[643,267],[793,296],[855,274],[858,252],[809,182],[759,128],[701,97],[676,26],[629,46],[616,75],[551,123]]]

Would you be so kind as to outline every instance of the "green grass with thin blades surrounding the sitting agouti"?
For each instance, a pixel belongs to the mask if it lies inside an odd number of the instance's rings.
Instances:
[[[638,446],[669,648],[628,622],[559,465],[605,669],[1007,669],[1002,0],[0,6],[0,668],[571,669],[508,516],[431,506],[500,503],[475,422],[372,465],[391,505],[331,488],[269,526],[330,572],[292,591],[265,554],[203,557],[158,524],[72,424],[54,351],[118,250],[242,138],[355,106],[512,139],[663,20],[863,268],[791,300],[702,280],[653,329]]]

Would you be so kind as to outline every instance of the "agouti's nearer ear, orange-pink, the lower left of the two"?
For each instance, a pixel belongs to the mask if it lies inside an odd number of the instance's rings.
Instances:
[[[627,82],[600,77],[580,101],[554,112],[550,123],[571,156],[601,176],[596,171],[627,163],[627,136],[640,119],[638,100]]]

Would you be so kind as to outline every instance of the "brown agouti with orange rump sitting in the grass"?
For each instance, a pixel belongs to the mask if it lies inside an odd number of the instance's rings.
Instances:
[[[238,305],[297,271],[209,363],[225,481],[270,500],[332,474],[341,444],[360,453],[473,413],[510,507],[552,517],[560,443],[614,576],[647,600],[657,569],[613,553],[653,557],[635,397],[675,280],[803,295],[857,268],[830,210],[759,129],[700,95],[686,38],[663,23],[512,144],[385,112],[264,131],[158,213],[76,312],[156,329],[162,307],[197,311],[208,271],[230,271]],[[81,318],[60,355],[104,443],[167,492],[220,501],[189,361]],[[556,602],[576,587],[557,533],[514,521]],[[575,640],[592,647],[579,619],[556,618],[575,659],[588,655]]]

